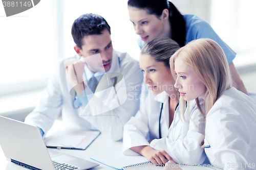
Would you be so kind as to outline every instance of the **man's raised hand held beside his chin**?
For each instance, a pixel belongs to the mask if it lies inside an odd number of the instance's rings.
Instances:
[[[79,95],[83,89],[86,88],[86,85],[82,80],[84,65],[84,62],[77,59],[70,59],[65,63],[65,69],[69,75],[69,82],[75,88],[77,95]]]

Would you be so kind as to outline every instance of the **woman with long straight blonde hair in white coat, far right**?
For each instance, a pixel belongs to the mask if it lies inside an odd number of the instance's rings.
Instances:
[[[180,104],[203,99],[198,108],[206,115],[204,148],[210,163],[224,169],[256,169],[256,104],[232,87],[220,45],[210,39],[191,41],[170,61],[177,74]],[[166,166],[180,169],[174,162]]]

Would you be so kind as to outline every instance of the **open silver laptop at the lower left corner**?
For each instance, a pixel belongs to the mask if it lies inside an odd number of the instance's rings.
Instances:
[[[47,149],[37,127],[0,116],[0,145],[7,160],[34,170],[89,169],[99,164]]]

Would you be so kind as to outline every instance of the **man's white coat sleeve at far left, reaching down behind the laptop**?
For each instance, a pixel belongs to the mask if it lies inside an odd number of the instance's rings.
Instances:
[[[52,127],[61,111],[60,69],[65,69],[62,62],[58,64],[53,76],[49,79],[40,103],[25,119],[26,124],[41,128],[45,134]]]

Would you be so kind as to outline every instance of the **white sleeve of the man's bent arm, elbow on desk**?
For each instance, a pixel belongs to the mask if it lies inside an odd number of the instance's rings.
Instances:
[[[138,63],[133,64],[130,68],[130,72],[126,70],[127,73],[123,73],[127,74],[123,76],[123,78],[125,78],[126,92],[122,88],[123,84],[119,85],[120,88],[116,86],[118,96],[123,93],[124,95],[127,95],[127,100],[123,104],[115,109],[111,109],[112,105],[114,105],[112,99],[106,104],[103,103],[101,99],[94,96],[89,100],[89,104],[82,110],[82,112],[79,113],[79,116],[86,119],[102,133],[108,134],[113,141],[122,139],[124,124],[139,110],[139,95],[141,92],[143,75]],[[102,113],[102,110],[109,111]],[[93,113],[101,114],[95,115]]]

